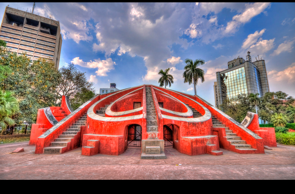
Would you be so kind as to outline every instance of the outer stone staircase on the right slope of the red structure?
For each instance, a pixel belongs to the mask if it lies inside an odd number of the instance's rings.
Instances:
[[[231,145],[235,146],[235,149],[244,151],[244,150],[256,150],[253,149],[251,145],[246,144],[246,141],[242,140],[241,137],[238,137],[236,133],[233,133],[229,127],[225,127],[222,122],[219,122],[216,117],[212,116],[213,127],[223,127],[225,128],[225,138]]]

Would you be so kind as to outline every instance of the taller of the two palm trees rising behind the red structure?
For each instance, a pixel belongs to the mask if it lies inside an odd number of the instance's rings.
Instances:
[[[182,74],[182,77],[184,78],[184,83],[189,82],[189,84],[194,84],[195,89],[195,95],[197,95],[196,92],[196,84],[198,84],[198,79],[201,79],[201,82],[203,83],[205,81],[204,75],[205,72],[203,69],[197,68],[198,66],[205,63],[203,59],[196,59],[194,62],[191,59],[185,59],[186,66],[184,67],[184,72]]]

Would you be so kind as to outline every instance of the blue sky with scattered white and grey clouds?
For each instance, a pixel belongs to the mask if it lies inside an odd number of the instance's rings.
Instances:
[[[33,3],[0,3],[30,12]],[[216,72],[247,51],[266,62],[270,91],[295,97],[295,3],[36,3],[34,14],[60,22],[59,67],[86,72],[96,92],[158,85],[170,67],[170,89],[194,94],[183,83],[185,59],[203,59],[205,82],[197,95],[214,103]],[[169,88],[169,87],[168,87]]]

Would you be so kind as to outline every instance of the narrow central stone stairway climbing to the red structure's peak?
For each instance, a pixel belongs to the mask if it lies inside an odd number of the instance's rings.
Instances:
[[[153,100],[152,90],[150,87],[145,89],[145,98],[147,103],[147,131],[157,132],[158,131],[158,121],[155,109],[155,104]]]

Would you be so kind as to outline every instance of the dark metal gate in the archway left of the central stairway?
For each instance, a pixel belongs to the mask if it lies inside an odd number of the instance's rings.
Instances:
[[[127,146],[141,147],[141,126],[140,125],[128,126]]]

